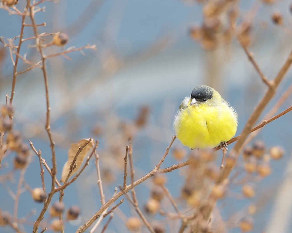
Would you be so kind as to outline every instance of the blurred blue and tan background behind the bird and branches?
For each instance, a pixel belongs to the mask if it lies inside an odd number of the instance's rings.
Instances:
[[[246,37],[241,43],[245,41],[259,67],[271,80],[292,47],[291,2],[234,2],[237,24],[244,19],[252,22],[242,33]],[[16,7],[23,10],[25,5],[25,1],[19,1]],[[135,179],[144,176],[161,159],[174,135],[173,118],[180,102],[199,84],[213,87],[235,108],[239,115],[236,135],[240,134],[267,87],[234,36],[222,41],[209,40],[208,35],[197,36],[198,32],[202,33],[200,30],[206,29],[204,27],[215,27],[214,24],[206,26],[206,15],[202,13],[206,14],[204,6],[206,3],[191,0],[71,0],[39,4],[39,7],[45,9],[35,14],[36,23],[46,22],[45,27],[38,28],[39,33],[61,31],[69,36],[69,42],[64,47],[47,47],[44,50],[46,55],[62,52],[71,46],[95,44],[97,48],[96,51],[83,50],[85,54],[66,54],[71,60],[64,56],[47,59],[51,129],[56,143],[58,179],[67,161],[70,143],[92,137],[99,140],[97,151],[105,199],[108,200],[114,187],[123,182],[124,148],[130,135],[133,136]],[[281,23],[279,18],[275,19],[275,13],[280,15]],[[223,26],[220,27],[226,27],[226,30],[220,38],[227,38],[228,17],[227,13],[222,15],[220,23]],[[0,9],[0,22],[0,36],[4,40],[19,35],[19,15],[10,15]],[[30,24],[29,18],[27,24]],[[32,36],[32,28],[25,27],[24,37]],[[44,43],[51,42],[52,36],[46,36],[45,40]],[[13,43],[17,45],[18,38]],[[25,41],[20,54],[26,54],[29,61],[37,62],[40,57],[33,45],[34,40]],[[11,94],[13,64],[9,49],[1,45],[0,50],[0,103],[3,105],[6,94]],[[20,62],[17,71],[27,67],[28,64]],[[288,72],[263,115],[274,106],[290,84],[291,72]],[[291,100],[288,97],[278,112],[290,106]],[[13,127],[20,130],[24,142],[31,140],[35,148],[41,150],[43,158],[51,167],[51,150],[44,129],[45,103],[41,69],[34,68],[18,75],[13,98]],[[222,217],[223,232],[240,232],[238,221],[248,215],[247,208],[251,203],[260,207],[253,215],[252,232],[275,232],[272,229],[277,229],[276,232],[291,231],[291,198],[281,196],[287,193],[291,196],[292,193],[292,188],[285,183],[291,182],[291,132],[291,113],[288,113],[265,126],[256,136],[257,140],[265,142],[267,150],[274,145],[282,146],[286,151],[285,156],[271,162],[271,175],[256,182],[257,195],[251,200],[235,195],[240,193],[241,187],[236,182],[230,186],[227,197],[218,202],[217,206]],[[182,148],[179,140],[175,140],[173,148]],[[231,149],[232,144],[228,148]],[[184,150],[186,153],[190,151],[188,148]],[[218,151],[217,155],[218,161],[215,163],[219,167],[222,153]],[[0,209],[11,214],[14,208],[11,193],[16,192],[20,173],[18,170],[13,171],[13,156],[10,153],[2,160],[0,170]],[[187,156],[177,160],[170,153],[162,167],[186,160]],[[240,159],[236,170],[241,171],[242,165]],[[5,174],[11,171],[13,175],[4,179]],[[187,206],[181,197],[184,171],[175,170],[166,175],[166,186],[180,209]],[[41,187],[39,172],[39,161],[34,156],[24,176],[31,188]],[[46,170],[45,182],[50,187],[51,179]],[[151,180],[147,180],[135,189],[141,209],[147,202],[151,187]],[[55,195],[52,202],[58,198]],[[81,209],[81,216],[77,220],[66,223],[65,232],[75,232],[100,208],[94,160],[90,161],[79,179],[65,189],[63,202],[66,207],[77,204]],[[281,209],[283,203],[284,208]],[[18,205],[18,218],[25,218],[26,224],[21,225],[21,230],[31,231],[41,208],[42,204],[34,203],[30,193],[23,190]],[[128,232],[124,221],[134,214],[133,206],[125,201],[115,212],[107,232]],[[281,216],[280,222],[277,216]],[[159,213],[147,218],[151,223],[162,220],[166,232],[178,232],[179,221],[170,223]],[[43,225],[49,222],[51,219],[45,215]],[[96,232],[101,231],[105,222],[102,221]],[[0,232],[14,231],[0,226]],[[147,232],[147,229],[143,228],[142,232]]]

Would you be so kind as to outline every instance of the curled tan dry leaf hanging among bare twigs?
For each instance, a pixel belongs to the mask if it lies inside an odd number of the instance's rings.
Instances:
[[[69,168],[70,168],[70,165],[72,163],[72,160],[74,159],[77,151],[79,150],[79,147],[80,146],[83,146],[86,141],[88,141],[89,138],[84,138],[84,139],[81,139],[79,142],[77,143],[74,143],[74,144],[71,144],[71,147],[68,151],[68,160],[67,162],[65,163],[64,167],[63,167],[63,170],[62,170],[62,177],[60,179],[61,182],[64,182],[65,179],[67,178],[67,175],[69,173]],[[72,171],[71,175],[72,176],[75,172],[77,172],[77,170],[79,169],[81,163],[83,162],[86,154],[88,151],[91,151],[93,148],[94,148],[94,145],[95,145],[95,142],[94,140],[91,140],[91,142],[89,142],[83,149],[82,151],[79,153],[78,157],[77,157],[77,160],[76,160],[76,167],[75,169]]]

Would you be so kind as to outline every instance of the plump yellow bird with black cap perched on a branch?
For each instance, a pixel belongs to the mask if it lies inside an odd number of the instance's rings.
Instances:
[[[237,112],[215,89],[199,85],[175,115],[177,138],[191,149],[227,146],[237,130]]]

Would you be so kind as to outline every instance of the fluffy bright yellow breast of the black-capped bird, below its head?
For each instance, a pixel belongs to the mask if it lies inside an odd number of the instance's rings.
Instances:
[[[174,128],[183,145],[194,148],[218,146],[237,130],[237,115],[226,102],[219,106],[188,106],[176,116]]]

